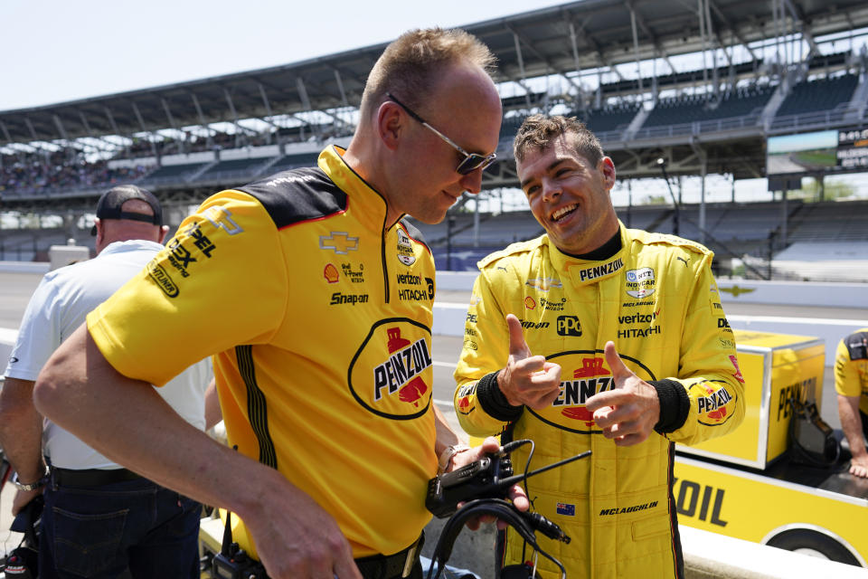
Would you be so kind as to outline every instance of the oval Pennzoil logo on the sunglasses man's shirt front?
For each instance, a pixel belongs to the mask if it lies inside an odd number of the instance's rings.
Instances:
[[[430,329],[409,318],[373,324],[350,362],[349,386],[356,402],[392,420],[424,414],[433,384],[430,340]]]

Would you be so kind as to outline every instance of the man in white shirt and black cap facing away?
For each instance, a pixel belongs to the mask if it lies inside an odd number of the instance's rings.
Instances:
[[[24,313],[0,391],[0,445],[17,470],[13,512],[44,494],[42,579],[114,577],[127,569],[135,577],[198,576],[198,503],[43,423],[33,406],[33,382],[45,361],[91,309],[163,249],[167,230],[154,195],[135,185],[110,189],[99,198],[91,231],[98,257],[46,274]],[[210,379],[210,363],[199,362],[160,394],[203,429]]]

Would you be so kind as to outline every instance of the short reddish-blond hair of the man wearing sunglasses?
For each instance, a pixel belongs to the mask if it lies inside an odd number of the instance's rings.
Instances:
[[[389,44],[373,65],[364,85],[360,112],[366,119],[386,100],[386,92],[411,109],[419,107],[449,64],[469,62],[489,75],[495,55],[473,34],[460,29],[410,30]]]

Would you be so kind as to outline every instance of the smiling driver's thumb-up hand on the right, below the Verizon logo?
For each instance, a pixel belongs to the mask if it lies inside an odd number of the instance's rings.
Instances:
[[[660,399],[654,386],[633,374],[624,365],[613,342],[606,342],[606,363],[612,371],[615,389],[594,394],[585,404],[594,413],[594,422],[603,436],[618,446],[645,441],[660,420]]]

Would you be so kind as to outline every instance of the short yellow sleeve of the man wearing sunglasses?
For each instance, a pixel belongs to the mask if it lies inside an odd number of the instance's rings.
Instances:
[[[286,315],[287,261],[264,207],[224,191],[206,200],[126,285],[88,315],[121,374],[162,385],[228,348],[264,341]],[[255,302],[255,308],[238,304]]]

